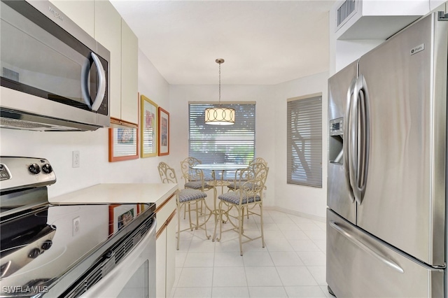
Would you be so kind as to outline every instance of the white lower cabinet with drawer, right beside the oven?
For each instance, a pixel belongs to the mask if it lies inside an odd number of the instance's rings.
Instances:
[[[158,201],[155,216],[158,222],[155,243],[155,281],[157,297],[169,297],[176,278],[176,196]]]

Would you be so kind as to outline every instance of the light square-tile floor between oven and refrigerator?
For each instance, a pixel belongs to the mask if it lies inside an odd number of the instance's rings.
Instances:
[[[271,210],[264,223],[266,247],[261,239],[245,243],[242,257],[236,232],[215,242],[202,229],[182,232],[172,297],[332,297],[325,283],[325,223]],[[259,225],[251,218],[245,229],[255,233]],[[210,220],[209,234],[213,228]]]

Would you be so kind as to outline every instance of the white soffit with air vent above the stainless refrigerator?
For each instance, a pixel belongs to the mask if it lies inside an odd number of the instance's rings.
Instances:
[[[444,0],[339,0],[330,10],[330,76],[384,43]]]

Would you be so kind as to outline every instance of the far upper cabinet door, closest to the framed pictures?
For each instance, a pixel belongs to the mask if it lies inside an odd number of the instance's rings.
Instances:
[[[125,20],[121,22],[121,119],[139,122],[139,41]]]

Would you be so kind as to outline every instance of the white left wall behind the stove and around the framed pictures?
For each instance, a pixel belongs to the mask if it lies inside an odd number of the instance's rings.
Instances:
[[[169,85],[139,52],[139,90],[169,106]],[[0,155],[41,157],[50,161],[57,183],[48,187],[50,197],[98,183],[156,183],[159,157],[109,162],[108,129],[95,132],[29,132],[0,129]],[[80,167],[71,167],[71,152],[79,150]]]

